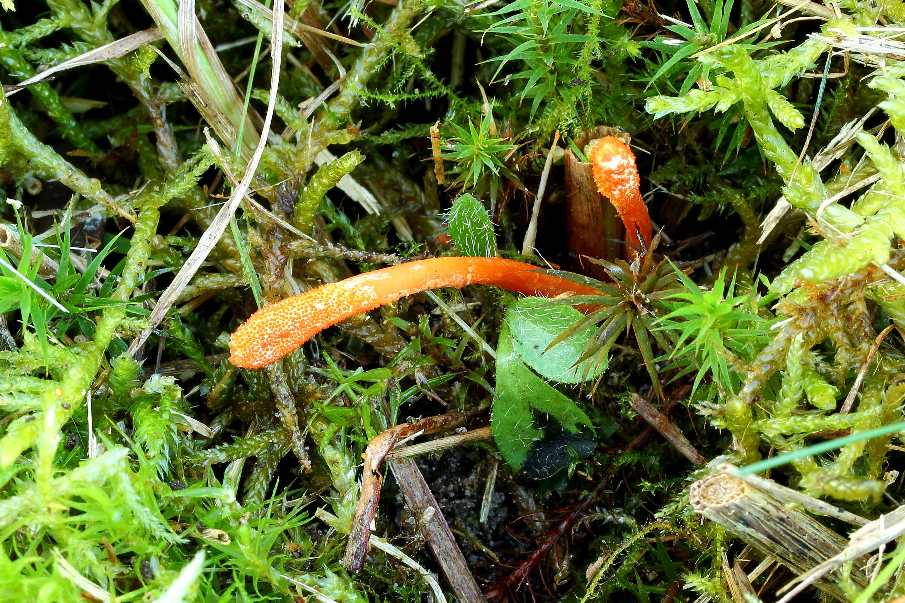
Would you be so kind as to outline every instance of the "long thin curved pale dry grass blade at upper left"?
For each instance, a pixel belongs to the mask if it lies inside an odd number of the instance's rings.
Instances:
[[[190,0],[184,0],[184,2],[188,4]],[[271,99],[270,102],[267,103],[267,113],[264,116],[264,127],[262,127],[263,132],[269,132],[271,129],[273,108],[276,104],[277,99],[277,90],[280,89],[282,36],[278,35],[278,33],[280,33],[282,30],[282,21],[283,16],[285,15],[285,0],[276,0],[274,4],[274,14],[277,15],[277,18],[273,21],[273,52],[271,52]],[[230,85],[232,86],[232,84]],[[233,217],[233,213],[235,213],[236,208],[239,207],[239,203],[242,203],[245,193],[248,192],[248,186],[249,184],[251,184],[252,178],[254,177],[254,174],[258,169],[258,163],[261,161],[261,156],[264,153],[264,147],[266,145],[267,137],[260,137],[258,139],[258,146],[254,149],[252,160],[249,162],[248,167],[245,169],[245,174],[243,174],[242,182],[240,182],[239,185],[233,190],[233,194],[230,196],[229,201],[227,201],[224,206],[220,208],[220,212],[217,212],[217,215],[211,222],[211,225],[198,239],[198,244],[195,247],[195,250],[192,251],[192,255],[189,256],[188,259],[186,259],[186,263],[183,264],[181,269],[179,269],[179,272],[176,274],[176,278],[173,279],[173,282],[170,283],[170,286],[167,287],[167,290],[164,291],[163,295],[161,295],[157,300],[157,304],[154,306],[154,310],[151,311],[151,316],[149,319],[151,325],[148,329],[145,329],[145,331],[142,332],[142,334],[138,338],[136,338],[131,345],[129,345],[130,354],[135,355],[138,349],[148,341],[148,337],[153,332],[154,327],[159,325],[160,321],[162,321],[167,316],[167,311],[169,310],[170,306],[173,306],[173,304],[176,302],[176,299],[179,297],[179,294],[182,293],[182,290],[186,288],[186,285],[188,285],[189,281],[192,280],[192,277],[195,276],[195,272],[198,271],[198,269],[201,267],[201,264],[205,261],[205,259],[207,259],[207,254],[209,254],[211,250],[214,249],[214,245],[216,245],[217,240],[220,240],[220,237],[223,236],[227,225],[229,225],[230,219]]]

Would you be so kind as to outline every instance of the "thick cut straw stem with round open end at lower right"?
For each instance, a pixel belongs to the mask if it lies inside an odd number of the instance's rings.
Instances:
[[[696,512],[796,574],[821,566],[846,549],[843,536],[823,523],[733,476],[715,474],[698,480],[691,485],[689,502]],[[870,582],[864,571],[864,552],[846,557],[846,561],[854,561],[851,578],[862,588]],[[816,580],[815,586],[845,600],[843,590],[832,580]]]

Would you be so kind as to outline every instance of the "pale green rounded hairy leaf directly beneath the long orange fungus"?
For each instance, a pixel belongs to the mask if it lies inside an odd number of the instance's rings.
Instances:
[[[582,317],[572,306],[550,306],[548,299],[525,297],[507,312],[512,347],[522,361],[547,379],[561,383],[595,379],[603,372],[599,363],[591,360],[578,363],[587,342],[594,336],[593,325],[549,347],[559,334]]]

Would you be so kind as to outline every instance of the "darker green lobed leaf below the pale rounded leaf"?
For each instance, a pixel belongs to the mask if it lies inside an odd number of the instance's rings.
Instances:
[[[500,329],[497,354],[491,429],[506,462],[543,479],[567,466],[573,452],[590,454],[595,448],[591,419],[519,360],[508,320]]]

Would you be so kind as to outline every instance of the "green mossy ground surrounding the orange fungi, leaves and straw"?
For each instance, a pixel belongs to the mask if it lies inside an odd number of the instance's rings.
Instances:
[[[181,49],[163,22],[167,40],[153,45],[172,64],[146,45],[5,89],[0,193],[13,201],[0,217],[24,259],[0,252],[0,598],[432,598],[417,571],[384,552],[372,550],[360,574],[341,566],[360,455],[411,418],[462,412],[467,429],[489,425],[505,400],[493,357],[424,294],[332,326],[268,370],[231,365],[228,336],[264,303],[407,259],[496,252],[592,273],[567,237],[575,191],[560,155],[536,255],[519,250],[553,133],[571,148],[586,128],[608,126],[631,135],[662,240],[650,265],[608,258],[600,304],[621,309],[591,325],[586,353],[608,358],[599,378],[576,385],[522,367],[571,400],[544,429],[562,435],[557,420],[577,413],[593,426],[593,452],[570,450],[543,480],[507,464],[510,451],[492,440],[418,465],[493,597],[733,600],[724,563],[748,560],[750,571],[759,553],[691,511],[688,486],[712,469],[691,466],[655,431],[639,438],[648,428],[632,395],[659,408],[677,400],[672,421],[691,445],[739,464],[901,420],[898,330],[869,355],[877,334],[905,319],[905,286],[890,276],[905,267],[905,84],[899,55],[851,42],[902,25],[900,4],[811,6],[817,18],[795,21],[789,7],[757,0],[296,0],[287,23],[333,37],[286,34],[272,134],[250,186],[257,206],[243,203],[159,324],[150,317],[160,292],[233,191],[224,168],[242,178],[253,150],[228,118],[205,122],[174,65],[240,112],[251,92],[245,124],[260,129],[271,97],[271,58],[255,60],[270,48],[262,5],[195,3],[235,91],[192,71],[200,51]],[[5,8],[7,87],[154,26],[152,13],[176,15],[163,0]],[[869,111],[862,134],[815,166]],[[206,143],[208,127],[223,154]],[[340,159],[325,162],[326,150]],[[345,174],[365,193],[340,182]],[[876,184],[852,188],[873,174]],[[471,218],[447,223],[463,193],[478,202],[470,215],[490,216],[483,231]],[[792,210],[762,231],[782,195]],[[52,276],[30,261],[39,250]],[[515,297],[436,293],[500,347]],[[844,408],[859,373],[860,396]],[[771,476],[875,518],[900,500],[897,441],[805,456]],[[386,476],[376,534],[441,573],[424,518]],[[548,554],[532,558],[545,542]],[[774,600],[791,578],[779,567],[755,587]],[[839,579],[859,596],[864,585]],[[900,596],[901,581],[873,600]]]

